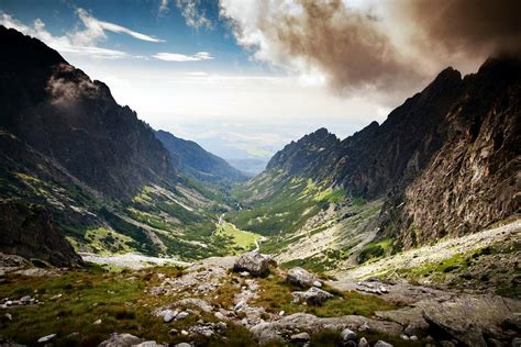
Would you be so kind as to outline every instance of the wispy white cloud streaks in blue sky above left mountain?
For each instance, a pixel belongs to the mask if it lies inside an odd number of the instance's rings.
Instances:
[[[84,24],[82,29],[75,30],[66,35],[55,36],[51,34],[45,23],[36,19],[32,25],[26,25],[8,13],[0,13],[0,24],[5,27],[12,27],[25,35],[30,35],[43,41],[48,46],[60,53],[71,53],[86,55],[96,58],[120,59],[130,57],[125,52],[99,47],[100,42],[106,41],[106,31],[128,34],[134,38],[147,42],[163,42],[163,40],[141,34],[124,26],[99,21],[84,9],[77,9],[76,14]]]

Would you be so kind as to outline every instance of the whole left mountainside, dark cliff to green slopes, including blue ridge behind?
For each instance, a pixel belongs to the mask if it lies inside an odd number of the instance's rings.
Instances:
[[[38,40],[0,26],[0,251],[64,265],[77,260],[64,237],[109,255],[190,260],[231,249],[213,232],[232,202],[202,179],[231,182],[239,171],[167,137],[179,145],[173,156],[104,83]]]

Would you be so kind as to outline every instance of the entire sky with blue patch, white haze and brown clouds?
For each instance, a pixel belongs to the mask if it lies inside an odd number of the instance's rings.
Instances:
[[[381,123],[447,66],[519,54],[521,1],[2,0],[155,128],[266,160],[326,127]]]

